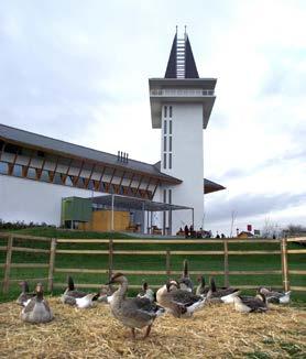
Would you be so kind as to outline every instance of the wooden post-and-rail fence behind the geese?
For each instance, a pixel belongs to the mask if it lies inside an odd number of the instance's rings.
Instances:
[[[134,275],[177,275],[182,271],[173,271],[171,269],[171,258],[173,255],[222,255],[223,257],[223,270],[222,271],[189,271],[193,274],[207,274],[207,275],[223,275],[225,286],[229,285],[230,275],[271,275],[278,274],[282,275],[283,283],[275,283],[275,287],[283,287],[284,291],[305,291],[306,286],[291,286],[289,278],[291,275],[306,275],[306,270],[291,270],[288,265],[288,254],[306,254],[306,249],[287,249],[288,242],[306,242],[306,237],[298,238],[282,238],[282,239],[61,239],[61,238],[43,238],[33,236],[21,236],[12,233],[0,233],[2,240],[7,239],[7,246],[0,246],[0,251],[6,251],[6,262],[0,263],[0,268],[3,268],[3,280],[2,280],[2,291],[3,293],[9,292],[10,283],[20,282],[21,279],[11,278],[11,269],[23,268],[23,269],[47,269],[47,276],[45,278],[32,278],[29,279],[30,282],[45,282],[47,283],[47,289],[50,292],[54,287],[65,287],[66,283],[57,283],[54,281],[55,273],[94,273],[94,274],[108,274],[111,275],[112,272],[124,272],[125,274]],[[24,241],[37,241],[47,242],[48,249],[31,248],[31,247],[17,247],[14,246],[14,240],[18,239]],[[90,250],[90,249],[59,249],[57,244],[59,243],[103,243],[107,244],[107,250]],[[130,250],[116,250],[114,244],[125,243],[131,244]],[[203,244],[204,250],[134,250],[133,244]],[[206,244],[219,243],[221,244],[221,250],[205,250]],[[229,250],[230,243],[277,243],[277,250]],[[13,252],[31,252],[31,253],[44,253],[48,254],[48,261],[46,263],[13,263],[12,253]],[[80,268],[57,268],[55,266],[56,254],[107,254],[108,255],[108,266],[101,269],[80,269]],[[132,255],[164,255],[165,257],[165,269],[163,271],[143,271],[143,270],[125,270],[113,268],[113,257],[120,254],[132,254]],[[230,271],[229,270],[229,258],[230,255],[275,255],[280,254],[282,269],[281,270],[261,270],[261,271]],[[306,260],[306,257],[305,257]],[[100,287],[100,283],[88,284],[80,283],[79,287]],[[153,287],[159,287],[160,285],[152,285]],[[140,287],[140,285],[130,285],[130,287]],[[255,285],[239,285],[241,289],[254,289]]]

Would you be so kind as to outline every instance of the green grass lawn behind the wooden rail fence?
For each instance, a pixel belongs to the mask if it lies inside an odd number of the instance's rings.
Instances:
[[[66,231],[55,228],[31,228],[14,231],[14,233],[30,235],[48,238],[87,238],[87,239],[129,239],[133,238],[132,235],[123,233],[101,233],[101,232],[79,232]],[[245,240],[247,241],[247,240]],[[6,246],[7,239],[0,238],[0,246]],[[132,246],[132,248],[131,248]],[[50,249],[48,242],[39,242],[33,240],[14,239],[14,247],[32,247]],[[289,243],[289,248],[298,249],[299,244]],[[57,249],[95,249],[108,250],[107,243],[58,243]],[[129,244],[116,243],[114,250],[221,250],[221,243],[199,243],[199,244],[168,244],[168,243],[145,243],[145,244]],[[278,243],[230,243],[229,250],[278,250]],[[48,253],[31,253],[31,252],[13,252],[13,263],[48,263]],[[223,255],[172,255],[171,270],[182,271],[183,260],[187,258],[189,261],[190,271],[222,271],[223,270]],[[0,251],[0,264],[6,262],[6,252]],[[306,270],[306,254],[289,254],[288,255],[289,269]],[[136,255],[136,254],[117,254],[113,257],[113,268],[117,270],[165,270],[166,258],[165,255]],[[56,254],[56,268],[83,268],[83,269],[108,269],[108,255],[106,254]],[[230,255],[229,257],[230,271],[260,271],[260,270],[281,270],[281,255],[260,254],[260,255]],[[55,273],[55,282],[66,282],[66,273]],[[30,279],[30,278],[46,278],[46,269],[11,269],[11,279]],[[107,274],[88,274],[88,273],[74,273],[74,279],[77,283],[105,283]],[[174,275],[177,276],[177,275]],[[192,275],[196,282],[196,275]],[[3,268],[0,268],[0,280],[3,279]],[[142,280],[147,280],[150,284],[162,284],[166,280],[166,275],[129,275],[131,284],[141,284]],[[208,280],[208,278],[207,278]],[[223,284],[222,275],[216,275],[217,283]],[[278,274],[273,275],[230,275],[231,285],[270,285],[281,286],[282,276]],[[306,276],[291,275],[291,285],[306,286]],[[55,294],[63,292],[57,289]],[[254,291],[251,291],[253,293]],[[17,283],[10,285],[10,293],[2,294],[0,292],[0,302],[10,301],[17,297],[19,287]],[[131,292],[132,294],[132,292]],[[296,303],[306,303],[305,292],[293,293],[293,300]]]

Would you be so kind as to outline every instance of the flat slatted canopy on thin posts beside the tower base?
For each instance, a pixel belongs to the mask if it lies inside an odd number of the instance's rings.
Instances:
[[[107,208],[127,209],[127,210],[146,210],[146,211],[164,211],[164,210],[182,210],[182,209],[193,209],[193,207],[170,205],[160,202],[153,202],[142,198],[133,198],[121,195],[106,195],[98,197],[90,197],[92,204],[102,205]]]

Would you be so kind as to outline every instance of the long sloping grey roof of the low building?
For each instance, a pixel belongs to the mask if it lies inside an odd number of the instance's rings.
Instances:
[[[59,155],[66,155],[80,160],[89,160],[98,162],[103,165],[120,167],[122,170],[130,170],[147,176],[157,177],[162,182],[179,184],[182,180],[172,177],[159,171],[153,164],[140,162],[135,160],[128,160],[127,162],[119,161],[118,155],[107,152],[97,151],[83,145],[65,142],[62,140],[52,139],[42,134],[20,130],[10,126],[0,123],[0,139],[15,143],[19,145],[28,145],[30,148],[50,151]]]

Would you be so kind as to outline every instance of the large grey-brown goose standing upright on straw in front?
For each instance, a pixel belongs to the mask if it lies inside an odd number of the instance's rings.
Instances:
[[[109,304],[112,315],[124,326],[131,328],[133,338],[135,338],[135,328],[146,327],[144,335],[144,338],[146,338],[150,335],[153,322],[165,309],[155,303],[151,303],[145,297],[127,298],[129,283],[122,273],[113,274],[107,284],[113,283],[118,283],[119,289],[113,293]]]

